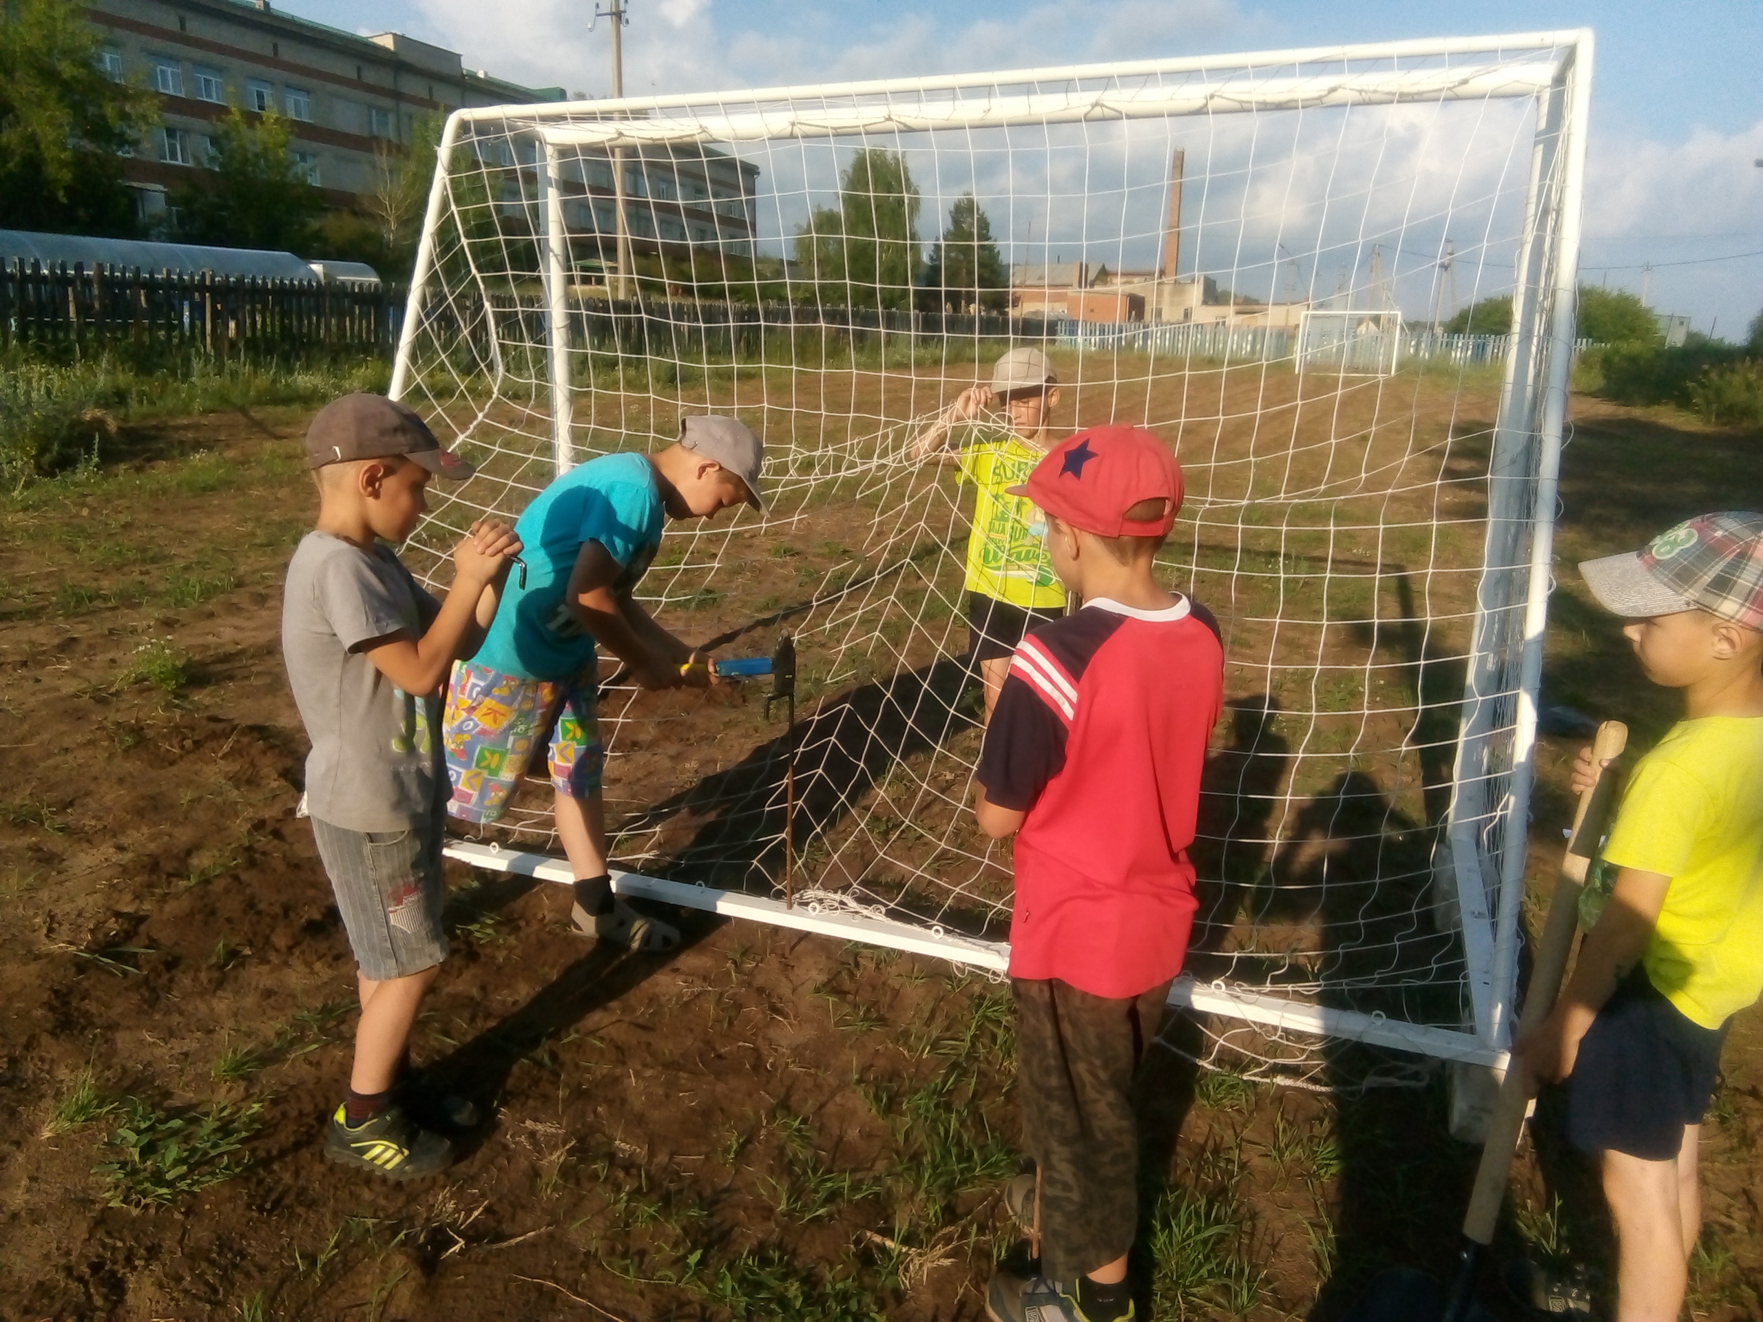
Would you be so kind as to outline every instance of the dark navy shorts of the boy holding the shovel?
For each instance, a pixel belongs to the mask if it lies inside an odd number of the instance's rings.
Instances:
[[[1700,1125],[1721,1072],[1726,1026],[1685,1017],[1634,969],[1580,1040],[1567,1081],[1567,1140],[1581,1153],[1670,1162]]]

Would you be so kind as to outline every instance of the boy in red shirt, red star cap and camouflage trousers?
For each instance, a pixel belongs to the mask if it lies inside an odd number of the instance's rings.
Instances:
[[[1015,836],[1010,987],[1035,1176],[1007,1202],[1040,1241],[1040,1276],[998,1271],[986,1308],[994,1322],[1116,1322],[1134,1317],[1134,1075],[1194,924],[1186,850],[1224,649],[1213,619],[1153,575],[1181,506],[1181,469],[1155,435],[1079,432],[1014,494],[1045,515],[1053,568],[1084,606],[1015,649],[977,772],[980,828]]]

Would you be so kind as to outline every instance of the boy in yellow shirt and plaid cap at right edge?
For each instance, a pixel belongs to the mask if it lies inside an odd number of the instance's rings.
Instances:
[[[1567,1137],[1599,1155],[1617,1223],[1617,1322],[1675,1322],[1721,1043],[1763,994],[1763,515],[1703,515],[1580,571],[1684,719],[1634,769],[1610,902],[1516,1051],[1571,1075]],[[1585,749],[1574,790],[1596,774]]]

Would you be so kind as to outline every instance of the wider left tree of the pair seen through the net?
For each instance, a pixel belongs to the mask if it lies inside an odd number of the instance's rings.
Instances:
[[[816,206],[795,231],[795,261],[815,296],[846,307],[911,307],[919,204],[903,153],[860,150],[839,183],[839,208]]]

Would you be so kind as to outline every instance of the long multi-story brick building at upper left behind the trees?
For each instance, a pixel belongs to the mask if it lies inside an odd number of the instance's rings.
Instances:
[[[111,78],[155,90],[160,123],[127,166],[141,213],[152,219],[166,194],[203,169],[215,123],[231,106],[275,108],[291,122],[294,159],[330,206],[360,208],[388,153],[409,145],[414,123],[460,106],[562,100],[562,88],[529,88],[465,69],[457,51],[398,32],[358,37],[270,7],[268,0],[90,0]],[[515,166],[510,159],[495,166]],[[562,187],[571,234],[612,256],[612,162],[584,157],[566,166]],[[626,231],[635,252],[661,243],[714,243],[751,252],[758,169],[693,148],[645,148],[624,160]],[[513,203],[517,180],[504,185]],[[511,208],[518,210],[518,208]],[[589,236],[605,236],[603,240]]]

